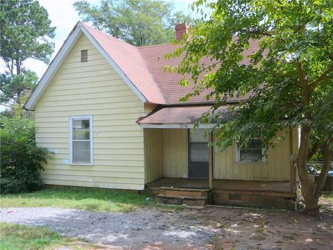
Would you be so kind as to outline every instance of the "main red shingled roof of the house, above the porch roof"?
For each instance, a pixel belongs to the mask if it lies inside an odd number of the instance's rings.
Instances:
[[[117,63],[135,87],[142,92],[149,103],[177,104],[180,97],[191,92],[191,85],[188,87],[178,85],[178,82],[183,77],[182,75],[164,72],[165,66],[176,66],[182,60],[181,57],[170,60],[164,59],[166,53],[171,53],[176,49],[175,45],[160,44],[134,47],[101,31],[97,31],[87,24],[83,25],[114,62]],[[253,41],[250,44],[250,48],[244,52],[244,56],[253,53],[257,48],[258,42]],[[244,58],[242,63],[246,64],[248,60],[248,58]],[[203,63],[211,63],[210,58],[203,58]],[[210,90],[205,90],[203,94],[189,99],[187,103],[207,103],[205,94],[209,92]],[[236,100],[237,98],[228,99],[228,101]]]

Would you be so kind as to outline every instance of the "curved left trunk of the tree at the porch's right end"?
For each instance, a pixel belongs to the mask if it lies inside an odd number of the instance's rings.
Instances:
[[[309,151],[310,127],[302,126],[300,133],[300,148],[298,149],[297,169],[300,183],[302,184],[302,194],[305,200],[305,212],[309,215],[320,216],[318,199],[314,197],[314,183],[311,182],[307,174],[307,155]]]

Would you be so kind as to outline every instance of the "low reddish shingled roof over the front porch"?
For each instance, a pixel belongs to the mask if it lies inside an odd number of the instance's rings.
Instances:
[[[193,128],[200,117],[209,112],[211,105],[196,106],[166,106],[157,108],[153,112],[138,119],[137,123],[143,128]],[[222,106],[219,111],[227,110]],[[201,128],[210,128],[214,124],[200,125]]]

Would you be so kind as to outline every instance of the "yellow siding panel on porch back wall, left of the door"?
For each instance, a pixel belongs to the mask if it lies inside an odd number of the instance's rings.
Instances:
[[[187,177],[187,129],[163,130],[164,177]]]

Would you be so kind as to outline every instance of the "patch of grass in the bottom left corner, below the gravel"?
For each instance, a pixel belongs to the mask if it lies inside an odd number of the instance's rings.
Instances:
[[[67,246],[70,249],[95,249],[92,244],[74,238],[65,238],[44,227],[0,223],[0,249],[55,249]]]

